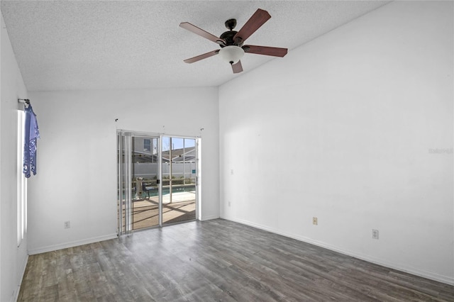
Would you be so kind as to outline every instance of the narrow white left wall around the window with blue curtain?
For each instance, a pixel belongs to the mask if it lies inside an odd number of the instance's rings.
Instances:
[[[0,301],[16,301],[26,267],[27,237],[17,246],[17,99],[26,99],[16,57],[1,16]],[[32,180],[33,181],[33,180]]]

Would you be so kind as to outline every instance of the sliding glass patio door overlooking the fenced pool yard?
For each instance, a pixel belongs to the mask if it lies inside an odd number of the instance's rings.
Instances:
[[[196,139],[118,130],[118,234],[196,219]]]

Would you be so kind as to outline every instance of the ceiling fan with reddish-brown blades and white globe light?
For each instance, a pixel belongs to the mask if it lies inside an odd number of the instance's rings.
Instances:
[[[233,73],[237,74],[243,71],[243,66],[241,66],[240,59],[241,57],[243,57],[245,52],[255,53],[258,55],[284,57],[284,55],[287,55],[287,48],[243,45],[245,40],[249,38],[250,35],[255,33],[255,30],[258,30],[258,28],[260,28],[260,26],[262,26],[270,18],[270,13],[262,9],[258,9],[238,32],[236,30],[233,30],[233,28],[235,28],[236,26],[236,19],[228,19],[225,23],[228,30],[219,38],[216,37],[216,35],[211,35],[211,33],[207,33],[205,30],[192,25],[191,23],[179,23],[180,27],[192,31],[192,33],[211,40],[214,43],[218,43],[218,45],[221,46],[221,49],[219,50],[213,50],[211,52],[206,52],[203,55],[191,57],[190,59],[184,60],[184,62],[194,63],[199,60],[206,59],[207,57],[220,55],[223,60],[229,62],[232,65]]]

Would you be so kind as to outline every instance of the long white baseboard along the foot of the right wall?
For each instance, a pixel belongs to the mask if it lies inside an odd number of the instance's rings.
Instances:
[[[259,225],[257,223],[251,223],[248,220],[228,219],[228,218],[223,218],[223,219],[231,220],[231,221],[234,221],[236,223],[241,223],[243,225],[249,225],[249,226],[252,226],[254,228],[258,228],[260,230],[266,230],[266,231],[271,232],[271,233],[279,234],[279,235],[282,235],[282,236],[285,236],[285,237],[289,237],[289,238],[293,238],[293,239],[296,239],[296,240],[299,240],[299,241],[302,241],[302,242],[310,243],[311,245],[316,245],[316,246],[319,246],[319,247],[323,247],[323,248],[326,248],[328,250],[332,250],[334,252],[340,252],[343,255],[348,255],[348,256],[355,257],[355,258],[358,258],[358,259],[361,259],[361,260],[365,260],[367,262],[371,262],[371,263],[374,263],[374,264],[382,265],[383,267],[389,267],[390,269],[396,269],[396,270],[401,271],[401,272],[406,272],[406,273],[409,273],[409,274],[414,274],[416,276],[421,276],[423,278],[427,278],[427,279],[431,279],[431,280],[434,280],[434,281],[442,282],[442,283],[445,283],[445,284],[454,285],[454,277],[443,276],[443,275],[436,274],[436,273],[433,273],[433,272],[426,272],[426,271],[424,271],[422,269],[416,269],[414,267],[406,267],[406,266],[403,266],[402,264],[396,264],[396,263],[393,263],[393,262],[386,261],[384,259],[377,259],[375,257],[370,257],[369,255],[363,255],[363,254],[359,254],[357,252],[352,252],[350,250],[345,250],[345,249],[342,249],[342,248],[339,248],[339,247],[336,247],[336,246],[333,246],[333,245],[328,245],[325,242],[319,242],[319,241],[316,241],[316,240],[312,240],[311,238],[308,238],[308,237],[303,237],[303,236],[298,236],[298,235],[294,235],[294,234],[283,233],[283,232],[281,232],[279,230],[275,230],[273,228],[268,228],[265,225]]]

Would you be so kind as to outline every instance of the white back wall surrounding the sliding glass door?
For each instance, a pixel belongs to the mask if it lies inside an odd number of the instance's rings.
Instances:
[[[29,96],[41,136],[28,187],[31,254],[116,236],[117,129],[201,137],[201,217],[219,217],[217,88]]]

